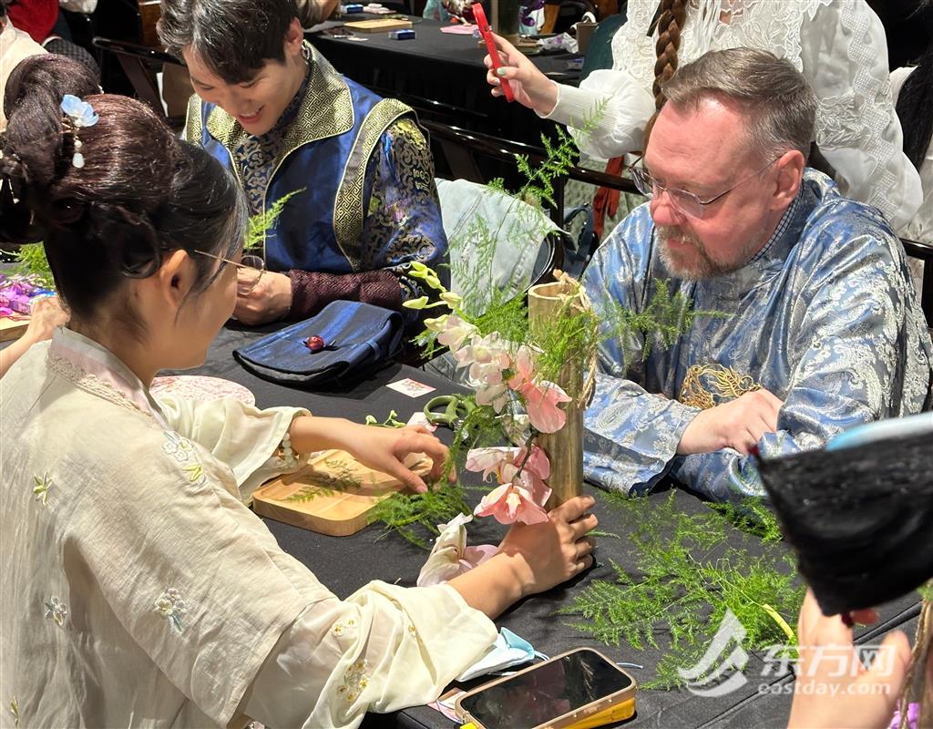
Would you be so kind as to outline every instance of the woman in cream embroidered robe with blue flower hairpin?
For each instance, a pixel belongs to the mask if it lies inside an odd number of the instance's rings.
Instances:
[[[24,207],[43,231],[70,318],[0,387],[10,723],[355,727],[437,698],[494,644],[492,617],[592,565],[590,497],[431,587],[341,599],[282,552],[245,485],[342,448],[424,490],[403,460],[438,478],[446,448],[425,428],[155,400],[155,373],[201,364],[234,309],[244,193],[146,105],[33,92],[3,138],[0,219]]]

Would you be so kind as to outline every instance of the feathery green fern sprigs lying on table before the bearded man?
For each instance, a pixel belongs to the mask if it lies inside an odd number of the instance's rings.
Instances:
[[[637,568],[611,563],[614,579],[592,582],[560,612],[579,615],[582,620],[571,625],[609,645],[660,648],[658,636],[667,633],[670,650],[655,679],[644,683],[647,688],[681,684],[677,669],[696,663],[727,609],[745,627],[746,650],[796,644],[790,623],[804,588],[793,559],[731,546],[731,523],[739,512],[684,513],[675,492],[664,501],[619,495],[606,500],[622,512]],[[762,516],[755,528],[761,524],[773,522]],[[771,539],[771,526],[763,531]]]

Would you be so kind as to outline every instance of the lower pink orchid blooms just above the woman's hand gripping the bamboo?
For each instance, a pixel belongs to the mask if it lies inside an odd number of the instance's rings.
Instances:
[[[525,453],[524,448],[500,447],[476,448],[466,455],[467,470],[482,470],[483,481],[495,472],[501,484],[480,501],[474,514],[494,516],[501,524],[547,521],[544,504],[550,498],[550,488],[544,480],[550,476],[550,461],[536,445],[527,460]]]

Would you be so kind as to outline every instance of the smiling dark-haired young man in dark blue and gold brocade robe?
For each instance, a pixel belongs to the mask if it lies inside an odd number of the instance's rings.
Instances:
[[[413,323],[402,303],[430,291],[407,275],[411,263],[437,268],[447,253],[430,149],[410,107],[304,42],[297,13],[294,0],[162,3],[160,38],[198,94],[188,140],[233,171],[254,215],[295,193],[262,245],[273,273],[235,316],[298,320],[342,299]]]

